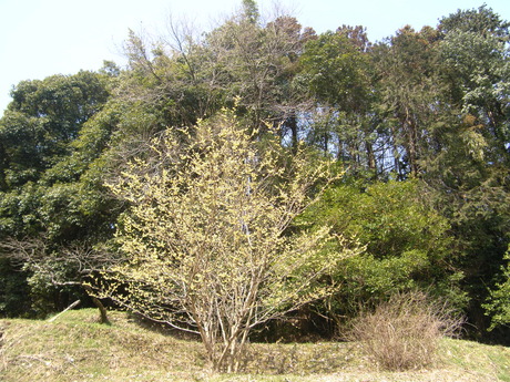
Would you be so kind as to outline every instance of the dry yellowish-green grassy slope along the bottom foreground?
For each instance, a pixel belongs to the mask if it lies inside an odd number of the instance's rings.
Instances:
[[[202,345],[94,310],[54,322],[0,320],[0,381],[508,381],[510,348],[443,340],[430,370],[378,372],[354,343],[253,344],[246,374],[208,372]]]

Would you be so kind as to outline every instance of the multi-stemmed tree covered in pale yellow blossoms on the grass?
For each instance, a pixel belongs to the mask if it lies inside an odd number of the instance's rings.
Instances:
[[[328,166],[268,149],[271,138],[259,149],[255,137],[230,112],[169,130],[110,184],[131,208],[116,235],[128,260],[109,273],[109,295],[200,333],[218,371],[238,370],[251,329],[330,292],[317,279],[357,251],[322,250],[343,240],[328,227],[288,233]]]

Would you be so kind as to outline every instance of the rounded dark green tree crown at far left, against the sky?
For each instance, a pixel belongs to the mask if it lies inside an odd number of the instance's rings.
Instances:
[[[12,91],[0,123],[3,189],[38,180],[70,154],[69,144],[109,95],[105,80],[91,72],[24,81]]]

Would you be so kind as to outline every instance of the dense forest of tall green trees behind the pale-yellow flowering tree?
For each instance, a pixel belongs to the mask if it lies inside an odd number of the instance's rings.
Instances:
[[[341,174],[283,233],[328,225],[364,248],[318,281],[341,288],[289,313],[299,335],[335,335],[360,307],[422,290],[467,314],[467,335],[508,343],[510,23],[481,6],[373,43],[360,25],[318,34],[242,4],[204,33],[131,31],[126,68],[14,86],[0,120],[0,313],[92,303],[126,256],[114,238],[131,205],[108,184],[155,158],[169,127],[227,109],[254,142],[276,135],[267,147],[290,157],[306,145]]]

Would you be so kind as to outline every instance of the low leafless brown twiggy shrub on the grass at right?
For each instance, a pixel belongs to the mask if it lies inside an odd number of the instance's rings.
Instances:
[[[375,311],[363,312],[349,338],[361,343],[368,357],[389,371],[419,370],[436,359],[439,340],[461,327],[445,304],[424,292],[392,296]]]

